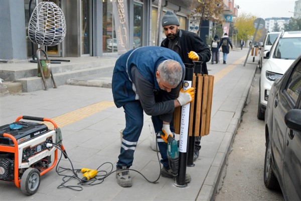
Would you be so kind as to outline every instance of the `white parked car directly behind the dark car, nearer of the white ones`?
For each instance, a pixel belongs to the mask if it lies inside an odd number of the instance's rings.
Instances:
[[[282,32],[270,51],[263,53],[266,60],[259,79],[257,118],[264,120],[267,99],[273,82],[280,78],[291,63],[301,54],[301,31]]]

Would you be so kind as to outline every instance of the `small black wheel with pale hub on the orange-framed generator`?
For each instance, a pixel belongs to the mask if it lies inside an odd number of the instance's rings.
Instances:
[[[24,194],[35,194],[40,186],[40,172],[35,168],[28,168],[21,178],[21,191]]]

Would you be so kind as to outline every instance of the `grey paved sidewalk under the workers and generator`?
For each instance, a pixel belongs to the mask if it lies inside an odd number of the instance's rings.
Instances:
[[[173,179],[164,177],[156,184],[150,183],[131,171],[133,185],[129,188],[117,184],[115,173],[97,185],[78,185],[75,179],[65,184],[82,187],[79,191],[58,188],[63,176],[53,169],[41,176],[38,191],[30,196],[24,195],[13,182],[0,181],[0,200],[213,200],[256,71],[257,62],[252,62],[252,57],[243,66],[246,54],[247,49],[231,51],[227,65],[207,63],[209,74],[215,76],[210,134],[202,137],[195,166],[186,168],[192,177],[187,187],[176,187]],[[62,130],[63,145],[72,162],[71,165],[62,157],[58,166],[97,169],[103,164],[99,170],[109,172],[112,166],[115,170],[120,151],[119,129],[125,126],[123,110],[114,106],[110,88],[87,87],[89,80],[109,82],[110,76],[106,73],[73,79],[85,80],[84,86],[63,85],[0,97],[1,126],[25,115],[52,119]],[[131,168],[155,181],[160,165],[157,152],[150,147],[149,125],[150,117],[144,115]],[[78,175],[82,177],[82,173]]]

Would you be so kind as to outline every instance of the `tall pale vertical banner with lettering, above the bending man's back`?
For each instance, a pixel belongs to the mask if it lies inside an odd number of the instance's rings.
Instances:
[[[117,39],[117,51],[118,54],[123,54],[129,50],[127,1],[114,0],[113,14]]]

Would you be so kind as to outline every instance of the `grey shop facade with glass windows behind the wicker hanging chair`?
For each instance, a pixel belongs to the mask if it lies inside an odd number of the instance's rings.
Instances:
[[[64,13],[66,36],[56,46],[40,46],[50,57],[83,57],[117,54],[116,16],[113,4],[127,6],[129,49],[160,45],[165,38],[161,19],[166,11],[179,18],[181,29],[187,30],[190,9],[185,0],[49,0]],[[48,0],[45,2],[49,2]],[[38,48],[27,31],[31,13],[41,0],[0,1],[1,60],[33,57]],[[119,8],[120,9],[120,8]],[[120,14],[119,14],[120,15]]]

